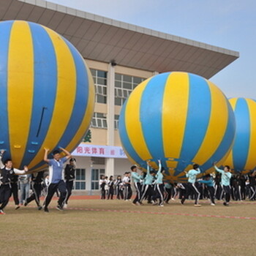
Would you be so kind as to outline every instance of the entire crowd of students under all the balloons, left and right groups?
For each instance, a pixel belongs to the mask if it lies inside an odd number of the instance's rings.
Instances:
[[[0,214],[4,213],[10,197],[13,196],[15,209],[20,205],[28,206],[31,201],[37,203],[38,210],[44,209],[49,212],[48,205],[56,193],[59,197],[56,208],[63,211],[72,194],[73,181],[75,180],[75,159],[64,148],[60,148],[65,157],[61,157],[61,151],[53,151],[53,159],[49,159],[49,150],[45,148],[44,161],[48,163],[48,173],[43,171],[28,174],[28,167],[18,170],[12,166],[11,159],[1,159],[4,151],[0,152]],[[69,159],[69,163],[64,166]],[[208,174],[203,178],[197,178],[201,173],[199,165],[193,165],[192,170],[184,172],[187,183],[171,183],[165,181],[165,169],[158,161],[158,170],[154,170],[150,162],[147,162],[147,171],[144,173],[136,165],[132,165],[124,177],[101,176],[99,187],[101,199],[132,200],[135,206],[147,203],[163,207],[170,200],[180,200],[184,204],[187,199],[195,200],[195,206],[200,206],[199,200],[209,199],[211,206],[215,206],[215,200],[224,200],[224,206],[229,206],[232,200],[256,200],[256,171],[248,175],[232,174],[230,167],[225,165],[219,169],[214,165],[216,172]],[[132,184],[134,184],[136,196],[132,199]],[[20,197],[18,189],[20,187]],[[31,195],[29,190],[31,189]],[[45,194],[44,202],[40,203],[40,196]]]

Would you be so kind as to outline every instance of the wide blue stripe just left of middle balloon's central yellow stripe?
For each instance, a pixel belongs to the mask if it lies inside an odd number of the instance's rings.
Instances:
[[[162,100],[165,83],[170,72],[148,81],[140,101],[140,122],[151,156],[161,159],[165,155],[162,143]]]

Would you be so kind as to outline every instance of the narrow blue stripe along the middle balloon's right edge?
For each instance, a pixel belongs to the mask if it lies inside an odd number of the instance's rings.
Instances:
[[[206,161],[206,163],[200,166],[200,170],[206,171],[212,167],[213,163],[222,159],[227,151],[230,149],[230,146],[233,143],[235,132],[236,132],[236,119],[233,113],[233,109],[229,102],[227,102],[228,108],[228,121],[227,129],[225,135],[222,138],[222,142],[219,144],[219,147],[214,152],[214,154]]]

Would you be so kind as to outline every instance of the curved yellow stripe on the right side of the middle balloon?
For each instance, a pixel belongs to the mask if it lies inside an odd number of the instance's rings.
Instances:
[[[203,143],[192,162],[206,162],[217,150],[227,129],[228,108],[225,96],[208,81],[211,91],[211,116]],[[222,99],[222,100],[219,100]],[[222,115],[219,115],[222,113]]]

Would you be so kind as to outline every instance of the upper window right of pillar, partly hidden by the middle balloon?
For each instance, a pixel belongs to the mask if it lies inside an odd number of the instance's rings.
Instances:
[[[115,74],[115,105],[124,105],[125,100],[129,97],[132,90],[143,80],[144,78]]]

